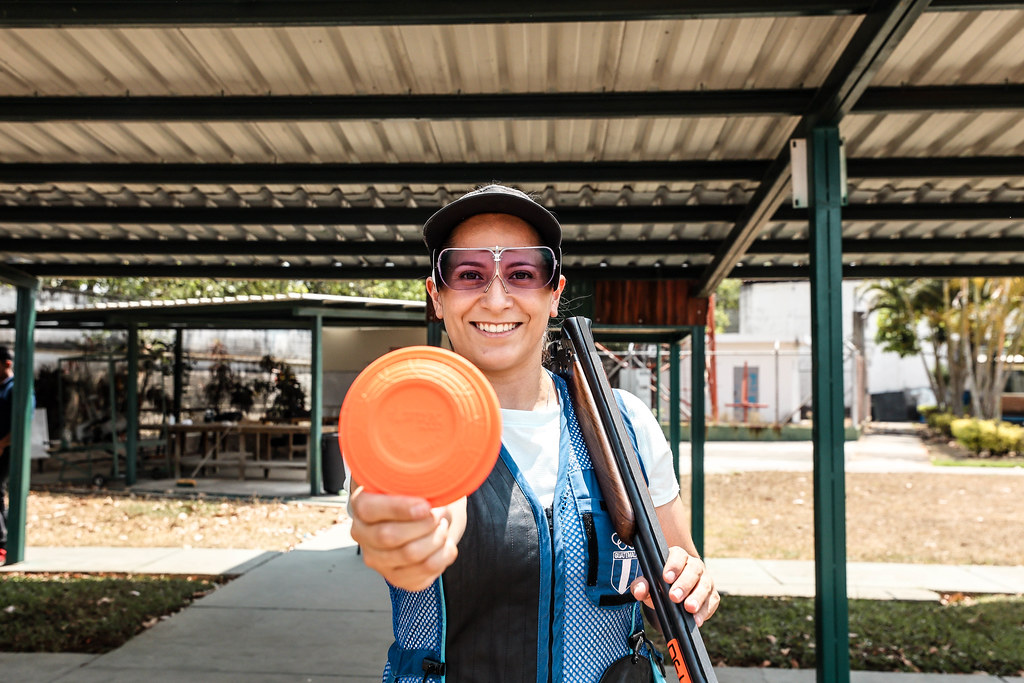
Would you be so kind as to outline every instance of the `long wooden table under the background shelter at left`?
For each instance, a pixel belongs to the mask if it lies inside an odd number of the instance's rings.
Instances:
[[[171,453],[174,456],[174,475],[181,476],[182,465],[194,469],[187,476],[196,476],[204,468],[238,467],[239,479],[246,478],[246,468],[259,468],[263,476],[275,468],[307,469],[309,425],[263,424],[259,422],[204,422],[191,425],[170,425]],[[296,443],[299,434],[306,436],[305,444]],[[189,437],[197,436],[195,446]],[[271,439],[287,437],[285,458],[273,458]],[[296,459],[296,454],[302,454]]]

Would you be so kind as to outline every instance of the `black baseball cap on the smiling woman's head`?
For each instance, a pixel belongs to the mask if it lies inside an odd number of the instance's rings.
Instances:
[[[490,184],[466,193],[438,209],[423,224],[423,241],[430,251],[431,272],[437,265],[437,252],[444,247],[452,230],[467,218],[481,213],[506,213],[529,223],[541,236],[541,242],[555,252],[557,285],[562,270],[562,226],[553,213],[530,199],[529,195],[515,187],[500,184]]]

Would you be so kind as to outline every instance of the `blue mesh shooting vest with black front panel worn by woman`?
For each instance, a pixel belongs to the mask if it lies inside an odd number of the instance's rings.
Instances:
[[[417,593],[390,587],[385,683],[589,683],[641,626],[633,548],[611,527],[565,382],[554,504],[544,509],[502,446],[468,499],[471,549]],[[627,431],[636,434],[616,395]]]

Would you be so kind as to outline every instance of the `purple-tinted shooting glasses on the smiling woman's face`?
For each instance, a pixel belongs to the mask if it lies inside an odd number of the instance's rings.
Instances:
[[[437,278],[453,290],[484,293],[498,279],[502,289],[539,290],[555,279],[555,252],[551,247],[449,247],[437,254]]]

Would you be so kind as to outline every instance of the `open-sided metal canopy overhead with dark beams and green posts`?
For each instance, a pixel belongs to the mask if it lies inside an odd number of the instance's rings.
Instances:
[[[489,179],[587,287],[809,278],[817,675],[848,681],[838,286],[1024,271],[1022,53],[1021,2],[0,2],[17,372],[37,278],[419,276],[419,224]]]

